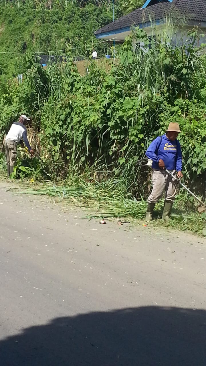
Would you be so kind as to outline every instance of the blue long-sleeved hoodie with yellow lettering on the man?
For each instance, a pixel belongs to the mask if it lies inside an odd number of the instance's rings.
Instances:
[[[162,159],[168,170],[182,170],[182,153],[179,141],[171,141],[165,135],[155,138],[146,151],[146,156],[153,161],[152,168],[160,170],[158,162]]]

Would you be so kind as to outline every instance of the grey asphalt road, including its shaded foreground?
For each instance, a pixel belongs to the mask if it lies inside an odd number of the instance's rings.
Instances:
[[[1,366],[206,365],[206,240],[3,186]]]

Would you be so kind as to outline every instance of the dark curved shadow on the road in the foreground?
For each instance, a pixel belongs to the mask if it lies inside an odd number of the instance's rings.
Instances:
[[[2,366],[205,366],[206,311],[139,307],[56,318],[0,341],[0,360]]]

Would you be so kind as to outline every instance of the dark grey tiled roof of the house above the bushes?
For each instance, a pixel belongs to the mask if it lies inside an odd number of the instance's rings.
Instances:
[[[206,0],[173,0],[172,3],[164,2],[139,8],[114,22],[98,29],[95,34],[113,32],[115,30],[130,28],[150,22],[151,20],[164,19],[165,16],[175,12],[178,16],[185,16],[191,20],[206,22]]]

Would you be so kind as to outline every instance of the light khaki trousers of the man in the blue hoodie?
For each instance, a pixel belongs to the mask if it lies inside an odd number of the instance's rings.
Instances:
[[[148,203],[156,203],[162,198],[165,192],[165,199],[167,201],[173,202],[175,200],[175,195],[177,192],[176,183],[173,178],[168,174],[164,173],[163,170],[153,169],[152,175],[152,192],[147,199]]]

